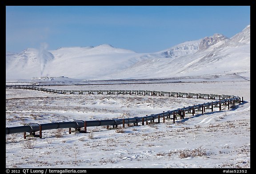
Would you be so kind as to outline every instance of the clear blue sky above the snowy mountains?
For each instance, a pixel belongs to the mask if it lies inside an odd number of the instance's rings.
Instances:
[[[6,51],[111,44],[152,53],[250,24],[250,6],[6,6]]]

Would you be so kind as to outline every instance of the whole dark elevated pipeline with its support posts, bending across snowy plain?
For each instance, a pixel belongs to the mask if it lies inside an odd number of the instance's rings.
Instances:
[[[109,126],[112,125],[117,126],[120,124],[138,124],[141,123],[144,125],[144,121],[152,121],[152,120],[156,120],[156,119],[160,119],[163,117],[169,117],[171,115],[173,115],[173,123],[175,123],[175,119],[176,119],[176,115],[180,115],[181,118],[184,118],[184,112],[191,112],[192,114],[194,114],[194,110],[195,109],[202,109],[202,113],[204,111],[203,108],[207,107],[209,108],[210,106],[213,108],[213,105],[218,105],[220,107],[221,110],[221,104],[226,104],[228,103],[228,108],[229,108],[229,103],[235,103],[235,102],[241,102],[240,97],[235,97],[235,96],[229,96],[229,95],[215,95],[215,94],[196,94],[196,93],[175,93],[175,92],[163,92],[163,91],[134,91],[134,90],[94,90],[94,91],[64,91],[64,90],[55,90],[55,89],[44,89],[44,88],[38,88],[38,87],[34,87],[34,86],[6,86],[6,88],[18,88],[18,89],[32,89],[32,90],[40,90],[40,91],[48,91],[48,92],[52,92],[52,93],[92,93],[92,94],[103,94],[104,92],[107,92],[107,94],[111,93],[111,94],[141,94],[141,95],[150,95],[151,96],[155,96],[155,95],[168,95],[170,96],[179,96],[179,97],[183,97],[183,95],[185,95],[186,97],[192,97],[192,96],[196,96],[198,97],[207,97],[209,99],[210,98],[226,98],[224,100],[220,100],[220,101],[212,101],[212,102],[208,102],[208,103],[204,103],[204,104],[197,104],[197,105],[193,105],[193,106],[188,106],[188,107],[184,107],[184,108],[178,108],[176,110],[172,110],[172,111],[167,111],[167,112],[163,112],[163,113],[159,113],[159,114],[151,114],[150,116],[143,116],[143,117],[134,117],[134,118],[125,118],[125,119],[111,119],[111,120],[88,120],[88,121],[83,121],[83,120],[74,120],[74,121],[70,121],[70,122],[55,122],[55,123],[47,123],[47,124],[28,124],[25,126],[18,126],[18,127],[7,127],[5,129],[5,134],[14,134],[14,133],[22,133],[22,132],[30,132],[30,133],[35,133],[36,131],[43,131],[43,130],[51,130],[51,129],[58,129],[58,128],[76,128],[76,129],[80,129],[80,128],[85,128],[86,127],[94,127],[94,126]],[[243,101],[242,101],[243,102]]]

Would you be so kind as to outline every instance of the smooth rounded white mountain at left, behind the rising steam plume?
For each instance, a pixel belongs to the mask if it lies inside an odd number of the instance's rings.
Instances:
[[[139,61],[141,58],[138,55],[134,51],[107,44],[96,47],[64,47],[41,52],[29,48],[20,54],[6,54],[6,78],[100,78]]]

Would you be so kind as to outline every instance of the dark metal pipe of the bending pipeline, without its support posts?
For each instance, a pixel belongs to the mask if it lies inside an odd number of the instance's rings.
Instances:
[[[12,87],[15,88],[15,87]],[[51,89],[43,89],[43,88],[32,88],[32,87],[25,87],[22,86],[20,87],[21,89],[37,89],[37,90],[44,90],[44,91],[48,91],[50,92]],[[69,90],[63,90],[63,92],[81,92],[81,91],[69,91]],[[85,92],[85,91],[82,91]],[[87,91],[86,91],[87,92]],[[92,91],[93,93],[96,93],[97,91]],[[101,90],[98,91],[99,92],[108,92],[108,93],[118,93],[117,90]],[[135,91],[122,91],[123,93],[131,93],[131,92],[135,92]],[[138,91],[136,91],[138,93]],[[141,91],[140,91],[141,92]],[[152,94],[156,94],[157,91],[143,91],[144,94],[148,94],[149,92],[152,92]],[[177,95],[178,93],[176,92],[158,92],[159,95],[160,93],[162,94],[172,94],[172,95]],[[211,105],[217,105],[217,104],[222,104],[222,103],[226,103],[226,102],[231,102],[231,101],[240,101],[240,97],[236,97],[236,96],[228,96],[228,95],[214,95],[214,94],[195,94],[195,93],[179,93],[180,95],[188,95],[188,96],[194,96],[194,95],[199,95],[199,96],[210,96],[210,97],[223,97],[223,98],[227,98],[224,100],[220,100],[220,101],[212,101],[212,102],[208,102],[208,103],[204,103],[204,104],[197,104],[197,105],[193,105],[193,106],[188,106],[186,108],[178,108],[176,110],[172,110],[172,111],[167,111],[167,112],[162,112],[159,114],[151,114],[150,116],[143,116],[143,117],[134,117],[134,118],[126,118],[126,119],[112,119],[112,120],[88,120],[86,121],[86,127],[93,127],[93,126],[108,126],[108,125],[120,125],[123,124],[136,124],[136,123],[140,123],[142,122],[142,120],[144,119],[144,121],[149,121],[149,120],[156,120],[158,119],[158,117],[162,118],[164,116],[171,116],[173,114],[179,114],[181,115],[182,111],[190,111],[192,109],[198,109],[198,108],[202,108],[202,107],[208,107]],[[74,120],[74,121],[70,121],[70,122],[56,122],[56,123],[47,123],[47,124],[28,124],[25,126],[17,126],[17,127],[10,127],[10,128],[6,128],[5,129],[5,134],[13,134],[13,133],[21,133],[21,132],[36,132],[40,130],[40,126],[41,126],[41,130],[50,130],[50,129],[57,129],[57,128],[83,128],[84,127],[84,121],[83,120]]]

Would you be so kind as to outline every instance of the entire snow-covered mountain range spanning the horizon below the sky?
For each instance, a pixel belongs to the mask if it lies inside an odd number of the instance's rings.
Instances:
[[[70,77],[81,80],[238,74],[250,78],[250,25],[228,39],[214,34],[156,53],[104,44],[6,52],[6,80]]]

